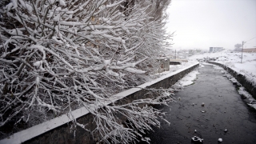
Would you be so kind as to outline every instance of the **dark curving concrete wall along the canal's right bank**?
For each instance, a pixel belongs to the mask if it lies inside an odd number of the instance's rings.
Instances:
[[[246,80],[246,77],[242,74],[239,74],[235,70],[232,70],[230,67],[227,67],[225,65],[222,65],[221,63],[218,62],[209,62],[214,65],[221,66],[224,70],[229,72],[234,78],[240,82],[242,86],[246,88],[246,90],[256,99],[256,87],[251,83]]]

